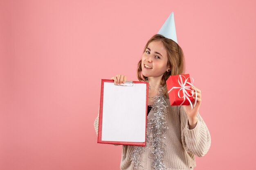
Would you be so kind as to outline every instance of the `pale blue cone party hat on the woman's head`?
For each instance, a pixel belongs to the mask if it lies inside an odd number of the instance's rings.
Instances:
[[[164,25],[161,27],[157,34],[161,34],[168,39],[172,39],[178,44],[173,12],[169,15],[167,20],[164,22]]]

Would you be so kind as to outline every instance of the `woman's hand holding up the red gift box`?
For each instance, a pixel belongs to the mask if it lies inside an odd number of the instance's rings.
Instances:
[[[194,107],[195,89],[192,86],[191,86],[191,89],[194,92],[193,101],[192,101],[193,109],[191,109],[191,105],[183,105],[183,107],[184,107],[184,111],[186,112],[186,115],[188,116],[188,118],[190,120],[196,120],[196,115],[199,111],[199,107],[200,107],[201,101],[202,101],[202,94],[201,94],[201,90],[195,87],[198,96],[197,96],[197,101],[196,101],[196,104],[195,104],[195,107]],[[192,94],[192,92],[190,92],[190,94]]]

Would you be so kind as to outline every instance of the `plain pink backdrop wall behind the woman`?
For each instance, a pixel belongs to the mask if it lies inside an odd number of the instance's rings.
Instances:
[[[137,81],[172,11],[212,139],[195,169],[255,168],[256,3],[159,2],[0,0],[1,170],[119,169],[121,146],[93,127],[101,78]]]

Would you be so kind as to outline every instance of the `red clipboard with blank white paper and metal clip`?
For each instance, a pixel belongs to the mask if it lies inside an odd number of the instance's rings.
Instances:
[[[98,142],[146,146],[148,83],[101,79]]]

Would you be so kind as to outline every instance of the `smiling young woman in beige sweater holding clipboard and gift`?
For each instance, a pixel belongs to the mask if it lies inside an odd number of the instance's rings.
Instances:
[[[196,166],[195,155],[202,157],[208,152],[211,136],[198,113],[202,102],[201,90],[195,87],[198,98],[193,109],[190,105],[170,106],[166,80],[171,75],[184,74],[184,70],[183,51],[175,41],[160,34],[150,38],[137,68],[139,81],[147,81],[150,86],[146,146],[123,145],[121,170],[192,170]],[[111,79],[118,85],[126,81],[126,76],[117,75]],[[159,89],[163,89],[162,93],[159,93]],[[193,87],[191,89],[195,90]],[[166,129],[158,143],[157,131],[150,130],[150,122],[154,120],[153,108],[157,107],[154,105],[157,95],[162,95],[166,103],[169,103],[163,113]],[[195,95],[193,99],[194,105]],[[99,115],[94,121],[97,134],[98,122]],[[157,150],[156,145],[159,144],[161,147]]]

